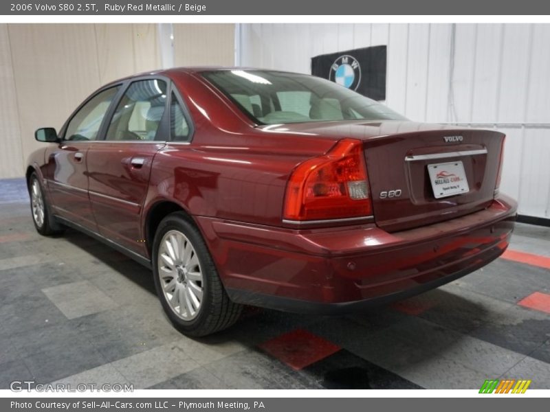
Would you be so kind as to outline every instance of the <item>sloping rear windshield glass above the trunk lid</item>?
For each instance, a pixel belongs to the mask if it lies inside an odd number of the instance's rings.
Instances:
[[[205,71],[202,76],[256,124],[405,117],[329,80],[267,70]]]

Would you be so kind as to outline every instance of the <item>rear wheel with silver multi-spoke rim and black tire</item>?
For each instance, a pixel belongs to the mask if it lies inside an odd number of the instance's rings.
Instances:
[[[225,293],[201,233],[183,212],[160,222],[152,266],[162,308],[183,334],[206,336],[239,319],[242,306]]]

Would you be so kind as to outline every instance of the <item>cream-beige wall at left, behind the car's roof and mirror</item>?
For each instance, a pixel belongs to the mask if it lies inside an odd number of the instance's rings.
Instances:
[[[87,95],[111,80],[173,65],[233,65],[234,24],[0,24],[0,179],[25,174]]]

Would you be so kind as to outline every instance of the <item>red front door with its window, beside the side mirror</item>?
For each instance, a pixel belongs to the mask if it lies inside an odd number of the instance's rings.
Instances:
[[[54,214],[94,231],[97,227],[88,198],[87,153],[120,88],[109,87],[89,98],[61,130],[63,141],[46,152],[45,175]]]

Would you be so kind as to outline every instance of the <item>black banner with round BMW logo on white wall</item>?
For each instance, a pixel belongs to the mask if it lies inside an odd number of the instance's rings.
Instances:
[[[363,47],[311,58],[311,74],[386,100],[386,46]]]

